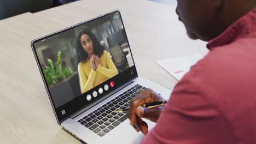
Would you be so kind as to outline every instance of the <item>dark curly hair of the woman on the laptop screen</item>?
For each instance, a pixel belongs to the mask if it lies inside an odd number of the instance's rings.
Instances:
[[[94,53],[96,56],[101,57],[105,49],[94,33],[92,33],[89,29],[82,29],[78,33],[77,38],[75,39],[75,56],[78,58],[78,63],[85,63],[86,61],[88,61],[88,54],[84,51],[80,42],[83,34],[87,34],[91,38],[92,44],[94,46]]]

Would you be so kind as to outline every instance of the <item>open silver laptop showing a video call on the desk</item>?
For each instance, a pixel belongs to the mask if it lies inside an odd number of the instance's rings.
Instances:
[[[31,42],[57,123],[82,143],[139,143],[126,113],[141,89],[171,90],[138,77],[120,11]],[[152,129],[155,123],[145,120]]]

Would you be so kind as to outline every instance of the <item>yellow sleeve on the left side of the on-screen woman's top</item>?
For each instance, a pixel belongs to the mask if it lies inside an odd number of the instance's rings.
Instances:
[[[90,74],[87,77],[85,71],[82,69],[82,66],[79,64],[78,65],[78,73],[79,73],[81,92],[85,93],[85,92],[89,91],[91,88],[93,88],[96,71],[91,69]]]

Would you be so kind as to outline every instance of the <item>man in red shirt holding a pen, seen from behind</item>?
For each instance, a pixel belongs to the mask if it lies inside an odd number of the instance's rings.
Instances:
[[[131,100],[130,124],[142,143],[256,143],[256,1],[178,0],[191,39],[209,41],[207,56],[178,82],[168,103],[152,89]],[[156,122],[148,133],[147,118]]]

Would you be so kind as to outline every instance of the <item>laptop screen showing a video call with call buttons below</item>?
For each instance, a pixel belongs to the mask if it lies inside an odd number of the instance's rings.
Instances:
[[[119,11],[32,41],[59,122],[137,77]]]

